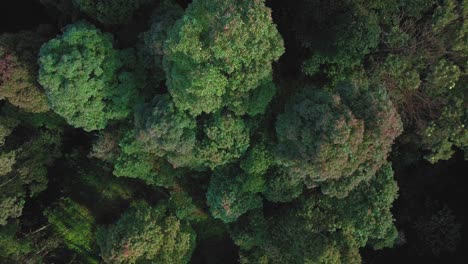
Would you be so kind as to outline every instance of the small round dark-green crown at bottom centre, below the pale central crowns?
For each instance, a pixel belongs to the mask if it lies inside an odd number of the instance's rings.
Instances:
[[[206,203],[214,218],[235,221],[248,210],[262,207],[259,196],[264,188],[261,175],[248,175],[236,167],[216,171],[211,177]]]

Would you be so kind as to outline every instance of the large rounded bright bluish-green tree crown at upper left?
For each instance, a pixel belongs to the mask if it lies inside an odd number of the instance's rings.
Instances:
[[[125,118],[140,84],[124,56],[110,34],[86,22],[67,26],[40,50],[39,82],[51,108],[86,131]]]

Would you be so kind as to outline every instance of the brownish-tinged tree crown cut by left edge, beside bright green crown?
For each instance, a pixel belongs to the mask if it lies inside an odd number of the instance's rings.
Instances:
[[[27,112],[49,110],[37,82],[37,53],[45,38],[35,32],[0,36],[0,99]]]

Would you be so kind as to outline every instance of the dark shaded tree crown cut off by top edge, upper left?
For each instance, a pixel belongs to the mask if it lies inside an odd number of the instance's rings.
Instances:
[[[133,13],[151,0],[73,0],[83,13],[106,25],[129,23]]]

